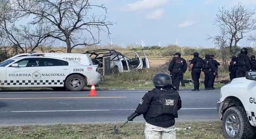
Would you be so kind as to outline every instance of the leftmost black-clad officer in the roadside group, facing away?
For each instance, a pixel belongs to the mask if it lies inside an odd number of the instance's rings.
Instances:
[[[173,81],[173,86],[179,91],[181,77],[187,70],[187,62],[185,59],[181,58],[180,53],[175,53],[175,57],[172,59],[169,65],[169,71],[171,73],[171,78]]]

